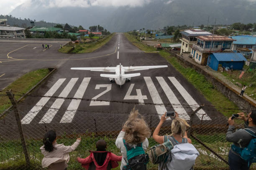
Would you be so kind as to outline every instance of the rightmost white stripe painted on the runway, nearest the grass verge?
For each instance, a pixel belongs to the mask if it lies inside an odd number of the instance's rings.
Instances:
[[[188,105],[192,105],[192,110],[195,111],[197,108],[196,107],[200,107],[197,102],[193,99],[193,97],[191,95],[189,95],[189,93],[187,92],[187,90],[184,89],[184,87],[178,82],[178,80],[175,77],[168,77],[169,80],[171,80],[172,84],[177,88],[177,90],[179,91],[179,93],[182,95],[182,97],[186,100]],[[194,106],[194,107],[193,107]],[[205,115],[204,115],[205,114]],[[211,120],[210,117],[205,113],[204,110],[200,109],[197,113],[196,113],[197,117],[201,120],[202,119],[202,115],[203,116],[203,120]]]

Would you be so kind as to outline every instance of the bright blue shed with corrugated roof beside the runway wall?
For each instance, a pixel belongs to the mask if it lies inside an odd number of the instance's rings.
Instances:
[[[215,71],[218,70],[219,64],[221,64],[222,67],[229,67],[233,70],[243,70],[245,61],[247,60],[241,53],[221,52],[210,54],[207,65]]]

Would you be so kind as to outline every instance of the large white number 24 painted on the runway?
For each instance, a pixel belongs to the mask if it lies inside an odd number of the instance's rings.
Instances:
[[[107,87],[107,89],[101,92],[100,94],[96,95],[95,97],[92,97],[92,99],[96,100],[97,98],[99,98],[100,96],[104,95],[105,93],[111,90],[111,84],[96,85],[95,89],[99,90],[101,87]],[[133,87],[134,87],[134,84],[131,84],[123,100],[138,100],[138,102],[143,103],[144,100],[148,99],[146,95],[142,95],[141,89],[136,89],[137,95],[131,95]],[[110,105],[110,102],[107,102],[107,101],[91,101],[90,102],[90,106],[105,106],[105,105]]]

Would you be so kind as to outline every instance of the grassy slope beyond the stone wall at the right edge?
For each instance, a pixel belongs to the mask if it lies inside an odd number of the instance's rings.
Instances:
[[[242,85],[246,85],[245,93],[247,95],[251,95],[251,98],[256,99],[256,69],[249,69],[248,66],[243,67],[243,77],[239,79],[239,75],[241,74],[241,70],[234,70],[233,72],[222,72],[222,75],[227,77],[231,82],[235,85],[236,82],[239,82]],[[251,85],[251,87],[249,87]],[[238,86],[238,85],[237,85]],[[239,86],[238,86],[239,87]],[[242,87],[240,87],[242,89]]]

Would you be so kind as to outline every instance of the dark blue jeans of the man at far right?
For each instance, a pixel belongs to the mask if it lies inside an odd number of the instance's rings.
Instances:
[[[248,167],[248,162],[243,160],[240,156],[234,154],[233,152],[229,151],[228,154],[228,164],[230,170],[249,170],[250,166]]]

